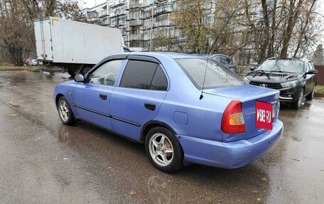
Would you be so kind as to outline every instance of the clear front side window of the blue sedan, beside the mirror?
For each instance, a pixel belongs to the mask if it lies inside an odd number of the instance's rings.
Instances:
[[[111,60],[102,64],[93,73],[90,73],[88,82],[98,85],[114,85],[123,60]]]

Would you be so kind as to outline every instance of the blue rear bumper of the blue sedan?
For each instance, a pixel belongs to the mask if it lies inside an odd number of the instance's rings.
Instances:
[[[220,168],[239,168],[266,154],[278,143],[283,131],[283,123],[277,120],[271,131],[250,139],[220,142],[178,135],[178,140],[185,161]]]

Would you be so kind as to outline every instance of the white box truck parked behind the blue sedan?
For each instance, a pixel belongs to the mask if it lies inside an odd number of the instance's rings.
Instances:
[[[36,19],[34,31],[41,70],[51,75],[54,66],[72,76],[86,73],[108,55],[129,52],[116,28],[48,17]]]

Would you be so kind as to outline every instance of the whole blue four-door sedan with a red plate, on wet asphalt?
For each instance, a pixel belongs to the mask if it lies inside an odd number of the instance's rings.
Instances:
[[[245,166],[266,154],[284,129],[278,90],[248,85],[197,55],[111,55],[56,85],[53,97],[63,124],[80,119],[140,142],[165,172],[185,162]]]

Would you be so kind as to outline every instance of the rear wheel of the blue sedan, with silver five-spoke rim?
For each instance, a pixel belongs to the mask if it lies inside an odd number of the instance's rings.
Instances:
[[[164,172],[183,166],[183,151],[175,135],[166,128],[154,127],[145,139],[145,149],[153,166]]]

